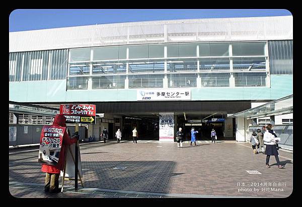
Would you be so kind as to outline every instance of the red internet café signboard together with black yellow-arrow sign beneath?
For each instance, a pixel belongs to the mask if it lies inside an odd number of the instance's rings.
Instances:
[[[60,114],[66,117],[66,123],[96,123],[96,105],[61,104]]]

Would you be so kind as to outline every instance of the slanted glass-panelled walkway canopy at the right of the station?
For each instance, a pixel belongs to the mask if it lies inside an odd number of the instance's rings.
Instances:
[[[246,119],[262,118],[274,115],[293,113],[292,105],[293,94],[268,102],[245,111],[233,114],[229,117],[242,117]]]

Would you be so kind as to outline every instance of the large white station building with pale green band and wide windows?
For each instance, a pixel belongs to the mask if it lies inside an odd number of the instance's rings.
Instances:
[[[233,114],[292,94],[292,16],[186,19],[10,32],[9,100],[59,108],[95,104],[86,139],[125,137],[174,141],[246,141],[249,120]],[[10,113],[10,123],[48,124],[52,118]],[[16,116],[18,118],[16,119]],[[15,118],[14,118],[15,117]],[[17,120],[17,122],[14,120]],[[258,125],[272,117],[257,118]],[[292,113],[275,124],[292,124]]]

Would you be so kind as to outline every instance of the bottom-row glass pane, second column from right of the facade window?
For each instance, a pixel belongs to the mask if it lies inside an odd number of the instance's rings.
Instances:
[[[200,74],[201,87],[229,87],[230,74],[202,73]]]

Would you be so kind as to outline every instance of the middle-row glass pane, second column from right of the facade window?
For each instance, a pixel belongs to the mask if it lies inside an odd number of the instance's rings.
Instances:
[[[201,58],[200,71],[230,71],[230,58]]]

